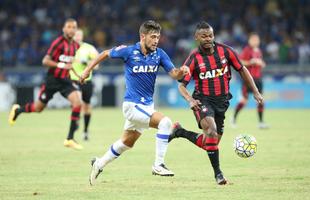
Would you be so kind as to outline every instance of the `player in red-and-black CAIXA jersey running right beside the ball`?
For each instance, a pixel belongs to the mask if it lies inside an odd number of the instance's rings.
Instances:
[[[239,72],[258,102],[261,103],[263,98],[232,48],[214,41],[213,28],[207,22],[200,22],[196,26],[195,40],[199,46],[184,63],[189,66],[190,73],[183,78],[179,91],[194,111],[198,127],[203,133],[188,131],[175,123],[169,142],[183,137],[207,151],[217,184],[225,185],[227,180],[220,169],[218,144],[224,132],[225,112],[232,98],[229,92],[230,67]],[[195,90],[191,96],[186,86],[192,77]]]

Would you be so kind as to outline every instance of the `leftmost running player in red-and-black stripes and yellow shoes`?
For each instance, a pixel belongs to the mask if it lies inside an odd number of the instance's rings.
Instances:
[[[42,112],[53,95],[60,92],[70,101],[72,108],[69,133],[64,141],[64,146],[82,149],[83,147],[74,140],[74,132],[78,129],[80,119],[81,94],[78,86],[74,85],[69,76],[75,52],[79,48],[79,44],[73,40],[76,30],[76,20],[67,19],[62,29],[63,35],[52,42],[42,60],[43,65],[48,67],[48,72],[45,83],[41,86],[39,99],[22,106],[14,104],[9,114],[9,123],[13,125],[21,113]]]

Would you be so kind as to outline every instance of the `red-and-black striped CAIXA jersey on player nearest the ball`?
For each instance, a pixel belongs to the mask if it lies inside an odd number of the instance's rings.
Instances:
[[[193,77],[195,92],[203,96],[224,96],[229,93],[232,66],[239,71],[243,65],[231,47],[215,42],[213,54],[208,55],[203,49],[193,50],[184,65],[190,73],[183,78],[187,85]]]

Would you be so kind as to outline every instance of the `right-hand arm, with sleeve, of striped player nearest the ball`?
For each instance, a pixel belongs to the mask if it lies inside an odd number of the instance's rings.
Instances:
[[[229,53],[229,61],[230,64],[233,66],[235,70],[237,70],[241,76],[241,78],[244,80],[244,82],[251,88],[253,91],[253,95],[257,103],[263,103],[264,99],[263,96],[258,91],[255,82],[253,80],[253,77],[251,76],[250,72],[246,67],[243,66],[241,61],[239,60],[237,54],[230,48],[227,48]]]

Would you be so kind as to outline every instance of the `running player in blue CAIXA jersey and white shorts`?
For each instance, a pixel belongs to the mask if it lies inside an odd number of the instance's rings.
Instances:
[[[154,109],[153,94],[159,66],[176,80],[182,79],[189,71],[186,66],[175,68],[169,56],[157,47],[161,27],[149,20],[140,26],[140,42],[130,46],[118,46],[103,51],[83,72],[81,82],[101,61],[108,58],[120,58],[125,63],[126,93],[123,103],[123,114],[126,118],[124,133],[119,140],[101,157],[91,162],[89,177],[93,185],[103,168],[119,157],[124,151],[132,148],[144,129],[158,129],[156,135],[156,158],[152,173],[160,176],[174,176],[165,163],[164,157],[168,147],[168,138],[172,131],[171,120]]]

